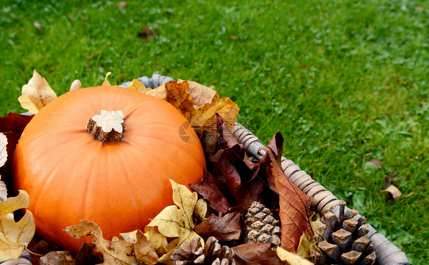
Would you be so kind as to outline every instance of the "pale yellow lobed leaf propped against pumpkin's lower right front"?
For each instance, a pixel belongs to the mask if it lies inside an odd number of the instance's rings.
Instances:
[[[186,186],[171,179],[170,182],[173,187],[173,201],[177,206],[167,206],[145,227],[146,237],[152,242],[158,255],[162,254],[159,262],[167,264],[173,263],[170,256],[182,243],[200,237],[194,232],[193,220],[193,212],[198,200],[197,192],[191,192]],[[167,244],[167,238],[178,240]],[[204,246],[202,239],[201,244]]]

